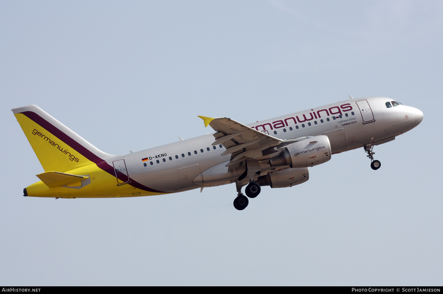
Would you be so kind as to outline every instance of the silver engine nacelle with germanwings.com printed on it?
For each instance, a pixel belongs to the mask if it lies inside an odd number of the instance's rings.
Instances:
[[[331,158],[328,136],[319,135],[284,147],[283,152],[269,159],[271,166],[308,167],[324,163]]]

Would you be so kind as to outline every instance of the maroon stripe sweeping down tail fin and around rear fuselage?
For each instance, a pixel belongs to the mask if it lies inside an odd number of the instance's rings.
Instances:
[[[68,144],[70,147],[74,148],[75,151],[83,155],[85,158],[89,159],[90,161],[97,164],[97,166],[107,172],[108,174],[115,177],[114,167],[110,166],[108,162],[101,159],[97,155],[93,154],[91,151],[89,151],[86,147],[84,147],[82,144],[78,143],[74,139],[72,139],[70,136],[66,135],[64,132],[60,131],[57,127],[55,127],[53,124],[45,120],[43,117],[39,116],[37,113],[32,111],[25,111],[20,112],[21,114],[27,116],[29,119],[35,121],[35,123],[39,124],[43,128],[45,128],[48,132],[51,132],[54,136],[56,136],[58,139],[62,140],[66,144]],[[136,187],[137,189],[148,191],[148,192],[154,192],[154,193],[168,193],[163,191],[158,191],[151,189],[147,186],[144,186],[140,184],[139,182],[134,181],[132,178],[129,178],[130,182],[129,185]]]

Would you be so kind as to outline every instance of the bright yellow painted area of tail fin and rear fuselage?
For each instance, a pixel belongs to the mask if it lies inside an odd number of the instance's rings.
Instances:
[[[46,172],[38,175],[46,184],[39,181],[28,186],[26,188],[27,196],[99,198],[163,194],[140,190],[131,186],[130,182],[118,184],[115,176],[99,168],[97,164],[85,158],[72,146],[63,142],[35,121],[22,113],[16,113],[15,116]],[[63,175],[55,176],[51,174],[54,172],[82,177],[81,180],[64,181],[62,179]]]

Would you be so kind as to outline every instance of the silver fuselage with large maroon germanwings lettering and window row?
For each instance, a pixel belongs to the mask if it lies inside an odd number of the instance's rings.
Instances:
[[[368,143],[388,142],[414,128],[423,119],[419,109],[402,104],[388,108],[386,103],[389,101],[392,99],[386,97],[350,99],[247,126],[279,139],[326,135],[332,154],[335,154],[364,147]],[[206,134],[118,156],[107,162],[113,166],[113,162],[124,159],[130,178],[162,192],[235,182],[245,171],[244,167],[228,170],[225,163],[229,162],[231,155],[221,156],[225,147],[212,146],[212,143],[213,134]],[[281,167],[284,168],[287,167]],[[260,175],[270,170],[275,168],[263,164]]]

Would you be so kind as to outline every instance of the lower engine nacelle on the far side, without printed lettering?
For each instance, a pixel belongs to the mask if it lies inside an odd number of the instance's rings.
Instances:
[[[307,180],[309,180],[309,170],[305,167],[274,171],[272,174],[258,177],[256,183],[271,188],[285,188],[299,185]]]

